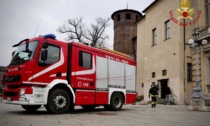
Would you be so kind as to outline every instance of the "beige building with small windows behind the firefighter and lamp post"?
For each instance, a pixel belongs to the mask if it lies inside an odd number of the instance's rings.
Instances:
[[[191,19],[177,19],[181,0],[155,0],[137,22],[137,91],[148,101],[152,83],[160,86],[159,98],[165,98],[165,87],[171,88],[179,104],[189,104],[195,86],[195,53],[188,40],[196,31],[200,46],[199,70],[202,93],[210,87],[210,0],[189,0],[194,9]],[[202,13],[199,13],[199,12]],[[185,25],[184,25],[185,24]]]

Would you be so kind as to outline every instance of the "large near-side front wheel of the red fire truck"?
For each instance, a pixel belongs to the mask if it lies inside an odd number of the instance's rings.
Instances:
[[[70,96],[65,90],[52,90],[45,107],[48,112],[53,114],[66,113],[70,109]]]

